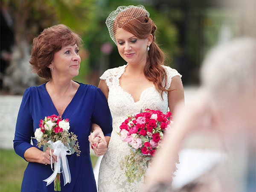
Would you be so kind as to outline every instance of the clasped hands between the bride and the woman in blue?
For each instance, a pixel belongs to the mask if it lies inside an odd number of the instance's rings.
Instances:
[[[101,128],[96,128],[88,137],[91,148],[97,157],[105,154],[107,151],[107,142]]]

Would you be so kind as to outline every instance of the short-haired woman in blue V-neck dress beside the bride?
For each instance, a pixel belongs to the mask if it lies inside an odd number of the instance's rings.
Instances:
[[[90,160],[88,136],[99,136],[106,142],[95,143],[97,156],[105,153],[112,131],[112,117],[102,91],[88,84],[73,81],[79,73],[79,46],[81,38],[63,24],[44,29],[34,39],[30,64],[44,84],[26,89],[17,117],[14,138],[15,152],[28,161],[21,191],[51,192],[54,183],[46,186],[43,180],[52,175],[50,149],[38,148],[34,137],[40,119],[52,114],[70,120],[70,130],[77,135],[81,154],[67,155],[71,182],[65,186],[61,174],[61,191],[96,191],[96,183]],[[92,122],[101,128],[92,130]],[[92,146],[93,147],[93,146]],[[99,149],[100,147],[100,149]],[[56,161],[56,156],[52,156]]]

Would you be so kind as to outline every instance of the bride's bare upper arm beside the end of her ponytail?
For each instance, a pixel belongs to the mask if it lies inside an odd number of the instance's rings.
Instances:
[[[175,105],[177,105],[177,103],[182,102],[184,104],[184,90],[180,76],[172,77],[172,83],[169,90],[168,106],[171,113],[173,113],[173,111],[175,110]]]

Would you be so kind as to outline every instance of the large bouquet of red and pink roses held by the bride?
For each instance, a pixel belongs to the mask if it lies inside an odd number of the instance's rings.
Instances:
[[[120,139],[131,147],[120,162],[128,182],[140,181],[148,168],[148,163],[163,141],[164,132],[171,129],[172,113],[145,109],[134,116],[128,116],[117,133]]]

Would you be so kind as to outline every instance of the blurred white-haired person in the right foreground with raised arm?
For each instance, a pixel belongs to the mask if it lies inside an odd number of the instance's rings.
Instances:
[[[254,38],[240,38],[209,52],[201,68],[198,102],[177,107],[173,132],[167,136],[152,163],[147,192],[256,190],[255,52]],[[227,159],[175,189],[172,176],[177,153],[185,135],[193,131],[221,134]]]

